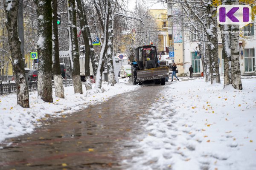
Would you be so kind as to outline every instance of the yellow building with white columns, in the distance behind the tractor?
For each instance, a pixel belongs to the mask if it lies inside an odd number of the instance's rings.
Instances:
[[[158,33],[158,51],[168,51],[169,46],[173,44],[172,31],[168,28],[167,9],[150,9],[148,10],[151,17],[157,23]],[[167,48],[167,50],[166,50]]]

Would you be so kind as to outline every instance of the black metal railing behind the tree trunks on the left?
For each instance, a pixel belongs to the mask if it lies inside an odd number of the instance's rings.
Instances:
[[[36,90],[38,87],[38,82],[28,82],[29,91]],[[63,79],[63,85],[64,87],[72,86],[73,81],[72,79]],[[54,88],[54,81],[52,80],[52,88]],[[0,94],[6,94],[6,93],[12,93],[16,92],[16,84],[15,82],[12,82],[9,80],[8,82],[1,82],[0,81]]]

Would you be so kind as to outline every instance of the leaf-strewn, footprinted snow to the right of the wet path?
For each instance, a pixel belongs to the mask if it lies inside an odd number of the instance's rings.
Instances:
[[[204,79],[166,85],[143,125],[145,134],[134,139],[137,147],[123,151],[134,155],[124,167],[255,170],[256,79],[242,83],[243,90]]]

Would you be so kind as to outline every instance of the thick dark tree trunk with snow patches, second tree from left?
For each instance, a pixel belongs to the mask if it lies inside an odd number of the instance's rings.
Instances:
[[[35,0],[38,14],[38,96],[52,102],[52,6],[51,0]]]

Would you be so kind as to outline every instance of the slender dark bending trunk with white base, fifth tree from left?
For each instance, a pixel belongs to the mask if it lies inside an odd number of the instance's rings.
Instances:
[[[84,72],[85,72],[85,87],[86,90],[92,89],[92,85],[90,82],[90,44],[89,44],[89,39],[88,39],[88,34],[86,32],[86,25],[85,25],[85,20],[84,20],[84,12],[81,4],[81,0],[76,0],[77,2],[77,7],[78,7],[78,16],[79,16],[79,23],[80,23],[80,28],[82,31],[83,39],[84,39],[84,47],[85,47],[85,62],[84,62]]]

